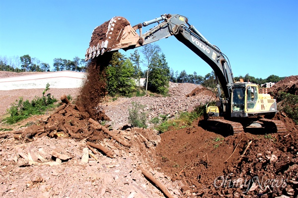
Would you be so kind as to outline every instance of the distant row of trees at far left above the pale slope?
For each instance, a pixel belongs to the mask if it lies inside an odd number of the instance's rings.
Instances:
[[[31,58],[29,54],[23,56],[13,56],[7,58],[6,56],[0,57],[0,71],[12,72],[45,72],[45,71],[80,71],[84,72],[87,62],[75,56],[73,60],[55,58],[53,67],[49,63],[42,62],[38,58]]]

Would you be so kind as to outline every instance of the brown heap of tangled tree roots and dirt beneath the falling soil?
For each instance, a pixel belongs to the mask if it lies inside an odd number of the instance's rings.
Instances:
[[[78,140],[86,138],[87,140],[95,139],[101,141],[107,136],[98,133],[92,128],[89,123],[89,114],[81,109],[80,106],[71,104],[66,95],[62,98],[63,103],[46,119],[39,119],[36,124],[28,128],[15,131],[15,139],[30,141],[32,139],[48,136],[51,138],[57,137],[72,137]],[[0,137],[5,138],[5,135]]]

